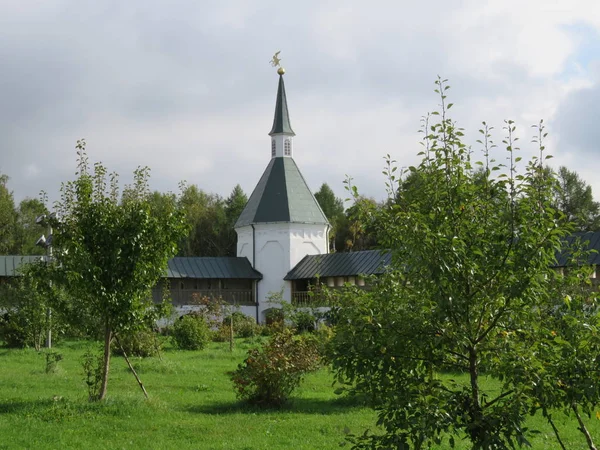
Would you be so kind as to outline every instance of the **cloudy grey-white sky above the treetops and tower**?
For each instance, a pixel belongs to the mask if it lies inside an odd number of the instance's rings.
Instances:
[[[524,157],[544,119],[555,165],[600,199],[600,1],[0,0],[0,173],[51,200],[75,144],[121,179],[249,195],[270,159],[281,50],[294,159],[316,191],[351,175],[382,199],[383,156],[418,162],[420,118],[449,79],[453,117],[515,120]],[[498,159],[503,158],[502,152]]]

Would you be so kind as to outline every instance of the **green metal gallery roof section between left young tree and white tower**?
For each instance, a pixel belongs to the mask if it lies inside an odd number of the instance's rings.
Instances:
[[[246,257],[172,258],[168,262],[167,278],[243,278],[262,279]]]

